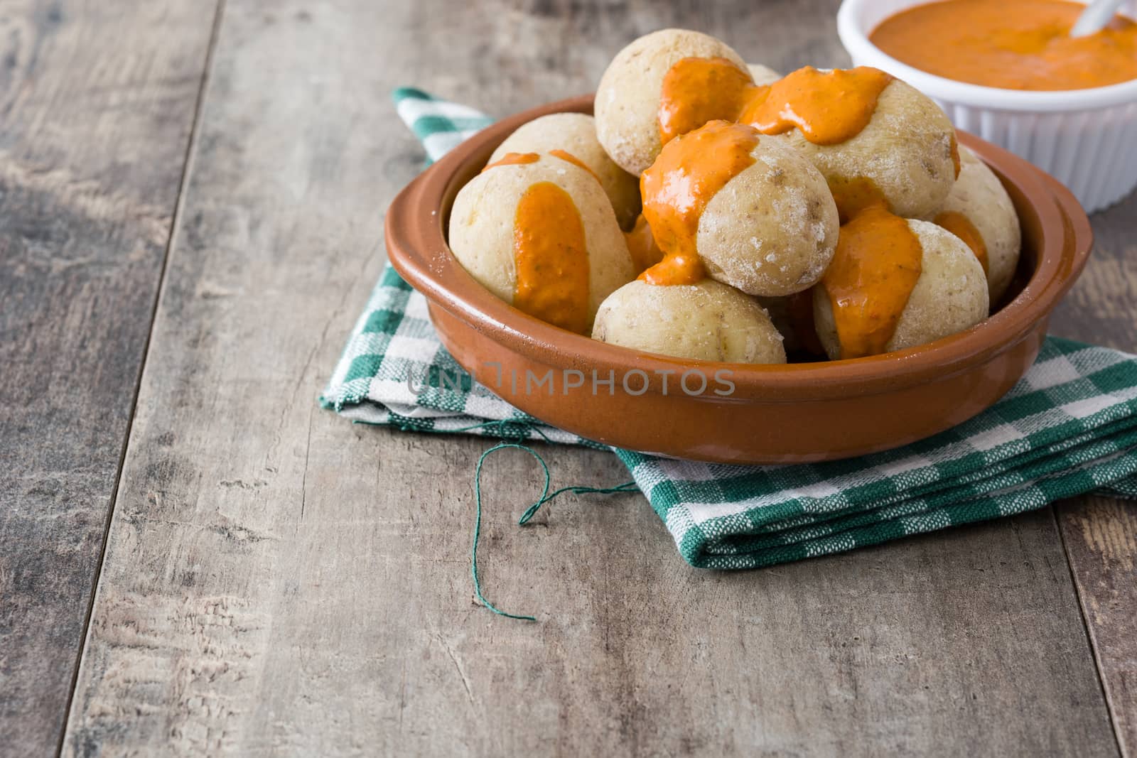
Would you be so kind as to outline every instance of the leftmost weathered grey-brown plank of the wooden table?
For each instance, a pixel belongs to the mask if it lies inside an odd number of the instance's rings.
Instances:
[[[0,755],[63,733],[211,22],[0,1]]]

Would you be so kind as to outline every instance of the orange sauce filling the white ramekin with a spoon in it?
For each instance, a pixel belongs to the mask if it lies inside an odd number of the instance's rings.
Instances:
[[[1085,6],[1064,0],[941,0],[886,18],[869,39],[920,70],[1005,90],[1085,90],[1137,78],[1137,24],[1073,39]]]

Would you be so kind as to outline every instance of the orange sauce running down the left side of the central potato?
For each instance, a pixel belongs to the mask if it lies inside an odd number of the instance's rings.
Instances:
[[[706,275],[695,242],[699,217],[727,182],[754,164],[757,143],[754,128],[713,120],[664,145],[640,177],[644,217],[664,258],[641,281],[695,284]]]

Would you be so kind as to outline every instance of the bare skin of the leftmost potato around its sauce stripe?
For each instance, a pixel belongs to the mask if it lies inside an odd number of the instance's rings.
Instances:
[[[588,319],[581,332],[587,334],[604,299],[636,275],[612,203],[587,169],[549,155],[541,155],[533,163],[487,169],[463,186],[454,200],[450,249],[471,276],[514,305],[517,205],[526,190],[541,182],[550,182],[567,192],[583,225],[588,251]],[[549,228],[547,233],[557,234],[558,230]]]

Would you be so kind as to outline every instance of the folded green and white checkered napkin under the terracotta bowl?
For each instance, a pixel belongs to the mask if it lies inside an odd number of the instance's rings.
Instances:
[[[431,159],[490,123],[417,90],[398,90],[395,101]],[[390,267],[321,402],[358,422],[407,431],[601,447],[540,423],[474,382],[438,341],[424,298]],[[986,413],[929,440],[850,460],[725,466],[614,452],[688,563],[770,566],[1090,491],[1137,498],[1137,357],[1052,338],[1023,380]]]

